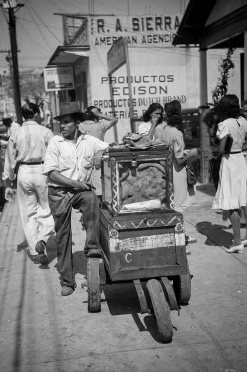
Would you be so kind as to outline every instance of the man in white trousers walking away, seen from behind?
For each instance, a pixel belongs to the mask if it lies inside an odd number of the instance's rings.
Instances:
[[[7,181],[5,199],[12,200],[15,192],[10,182],[17,175],[17,200],[29,253],[34,263],[47,264],[46,243],[54,228],[48,203],[48,186],[42,174],[42,164],[52,132],[38,124],[39,108],[26,103],[21,108],[25,121],[8,141],[3,180]]]

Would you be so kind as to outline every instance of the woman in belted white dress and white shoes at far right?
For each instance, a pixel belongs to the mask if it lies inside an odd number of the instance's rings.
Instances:
[[[228,253],[243,253],[244,246],[240,233],[240,207],[247,216],[246,185],[247,163],[242,153],[246,141],[247,121],[239,116],[239,101],[235,94],[227,94],[218,103],[218,114],[225,118],[218,124],[217,138],[220,140],[218,151],[222,155],[219,184],[214,197],[213,209],[230,212],[233,230],[233,245],[226,249]],[[227,138],[232,139],[231,150],[225,153]]]

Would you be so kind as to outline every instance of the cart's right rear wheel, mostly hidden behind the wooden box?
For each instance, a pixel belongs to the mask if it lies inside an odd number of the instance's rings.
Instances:
[[[174,292],[177,296],[178,303],[181,305],[188,304],[191,296],[190,270],[187,260],[187,274],[178,275],[173,279]]]

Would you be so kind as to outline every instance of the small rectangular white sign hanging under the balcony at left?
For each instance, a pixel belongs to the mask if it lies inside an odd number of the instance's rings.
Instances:
[[[49,67],[44,69],[45,91],[74,89],[72,67]]]

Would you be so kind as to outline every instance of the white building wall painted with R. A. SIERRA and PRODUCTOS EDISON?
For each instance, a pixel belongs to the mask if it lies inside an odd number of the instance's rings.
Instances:
[[[129,51],[132,117],[141,117],[153,102],[164,107],[166,102],[179,99],[182,107],[186,107],[186,56],[172,46],[180,19],[181,15],[176,14],[88,19],[91,32],[88,101],[119,119],[118,140],[131,130],[124,42]]]

